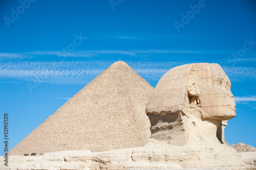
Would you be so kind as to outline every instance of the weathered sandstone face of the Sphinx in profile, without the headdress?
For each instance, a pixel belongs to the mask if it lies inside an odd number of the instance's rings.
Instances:
[[[236,116],[231,83],[220,65],[194,64],[190,75],[197,80],[203,118],[225,120]]]

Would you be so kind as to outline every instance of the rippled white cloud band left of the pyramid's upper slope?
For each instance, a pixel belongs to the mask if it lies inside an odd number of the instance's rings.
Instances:
[[[89,83],[112,61],[0,62],[0,80],[53,84]]]

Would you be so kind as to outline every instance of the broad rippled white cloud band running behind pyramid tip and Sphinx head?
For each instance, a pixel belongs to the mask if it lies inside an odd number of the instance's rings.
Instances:
[[[108,68],[113,60],[0,62],[0,81],[30,81],[53,84],[86,84]],[[169,69],[187,62],[126,61],[147,81],[158,81]],[[224,67],[229,78],[256,79],[255,68]]]

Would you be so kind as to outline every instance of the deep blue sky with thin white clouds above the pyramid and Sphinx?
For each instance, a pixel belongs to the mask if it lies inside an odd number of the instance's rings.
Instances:
[[[4,113],[11,149],[115,61],[153,87],[175,66],[208,62],[222,66],[237,103],[225,139],[256,147],[255,4],[1,1],[1,138]]]

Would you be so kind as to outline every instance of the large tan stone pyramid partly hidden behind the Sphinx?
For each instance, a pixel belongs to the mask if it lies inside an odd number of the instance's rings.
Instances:
[[[153,89],[125,62],[115,62],[9,154],[141,147],[151,135],[145,106]]]

